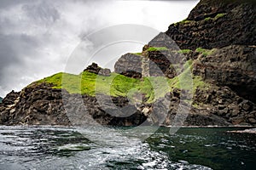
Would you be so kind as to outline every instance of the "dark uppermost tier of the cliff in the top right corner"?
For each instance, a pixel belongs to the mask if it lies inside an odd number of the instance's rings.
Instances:
[[[183,49],[253,45],[256,42],[256,6],[251,2],[201,0],[187,21],[172,24],[166,34]]]

